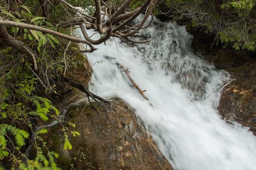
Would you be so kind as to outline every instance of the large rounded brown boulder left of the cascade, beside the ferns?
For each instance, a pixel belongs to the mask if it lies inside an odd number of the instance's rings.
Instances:
[[[82,103],[67,109],[76,124],[70,128],[80,133],[69,138],[71,150],[62,149],[61,126],[54,128],[56,135],[47,136],[49,147],[59,150],[56,162],[63,170],[173,170],[127,104],[120,99],[94,102],[97,112]]]

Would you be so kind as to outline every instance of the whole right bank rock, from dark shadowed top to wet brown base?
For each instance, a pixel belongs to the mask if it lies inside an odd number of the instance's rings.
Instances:
[[[223,90],[219,113],[227,120],[249,127],[256,135],[256,55],[212,46],[196,36],[193,48],[216,68],[228,71],[234,79]]]

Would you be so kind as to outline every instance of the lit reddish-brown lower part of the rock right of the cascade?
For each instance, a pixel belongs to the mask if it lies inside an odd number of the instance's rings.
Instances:
[[[225,87],[218,110],[224,118],[250,127],[256,135],[256,62],[229,71],[235,80]]]

